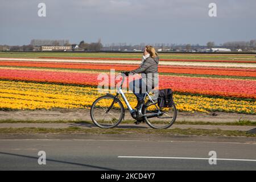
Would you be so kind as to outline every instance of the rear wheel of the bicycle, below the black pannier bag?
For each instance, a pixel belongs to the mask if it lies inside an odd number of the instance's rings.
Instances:
[[[158,109],[155,106],[155,102],[151,102],[148,100],[143,107],[142,114],[154,114],[158,113]],[[148,124],[148,126],[152,127],[153,129],[167,129],[171,127],[177,117],[177,109],[175,103],[172,107],[168,108],[160,108],[161,114],[158,117],[146,115],[144,116],[144,120]]]

